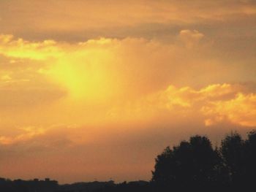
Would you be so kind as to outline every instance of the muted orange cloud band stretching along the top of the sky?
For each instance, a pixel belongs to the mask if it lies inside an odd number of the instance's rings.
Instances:
[[[29,5],[29,6],[28,6]],[[141,23],[184,25],[236,20],[255,15],[253,1],[15,1],[1,2],[4,29],[24,31],[17,23],[38,31],[86,31]],[[29,8],[28,8],[29,7]],[[67,9],[67,7],[69,7]],[[8,8],[8,9],[7,9]],[[40,13],[40,14],[39,14]],[[43,15],[43,17],[42,17]],[[34,19],[29,19],[33,17]],[[17,19],[18,18],[18,19]],[[65,20],[65,22],[63,22]],[[16,24],[16,25],[15,25]]]

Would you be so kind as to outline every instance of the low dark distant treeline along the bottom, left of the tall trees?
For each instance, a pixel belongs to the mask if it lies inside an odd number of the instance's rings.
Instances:
[[[108,182],[88,182],[59,185],[56,180],[7,180],[0,178],[1,192],[103,192],[103,191],[145,191],[149,182],[135,181],[116,184]]]

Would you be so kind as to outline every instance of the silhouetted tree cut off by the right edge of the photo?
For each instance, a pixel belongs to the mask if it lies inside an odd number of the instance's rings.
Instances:
[[[249,132],[246,140],[237,133],[227,135],[219,152],[228,170],[230,188],[252,188],[256,182],[256,131]]]

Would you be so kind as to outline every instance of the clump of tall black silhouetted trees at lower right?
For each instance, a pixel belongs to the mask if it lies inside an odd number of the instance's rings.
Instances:
[[[157,191],[256,191],[256,131],[245,140],[227,135],[215,148],[207,137],[190,137],[165,148],[154,168]]]

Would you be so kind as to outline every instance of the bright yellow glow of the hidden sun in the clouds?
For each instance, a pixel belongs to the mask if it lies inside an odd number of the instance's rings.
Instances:
[[[112,94],[112,77],[102,64],[111,61],[108,50],[85,50],[61,57],[49,73],[74,99],[97,101]]]

